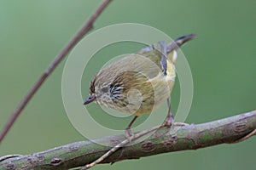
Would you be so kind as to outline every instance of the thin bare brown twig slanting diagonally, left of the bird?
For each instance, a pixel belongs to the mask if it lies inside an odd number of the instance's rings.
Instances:
[[[55,70],[56,66],[61,63],[61,60],[64,59],[67,54],[71,51],[71,49],[80,41],[85,34],[87,34],[92,28],[93,23],[98,18],[102,11],[108,6],[112,0],[105,0],[99,8],[96,9],[95,13],[90,16],[90,19],[85,23],[85,25],[79,30],[79,32],[73,37],[73,39],[67,43],[67,46],[61,50],[61,53],[58,54],[55,59],[49,64],[49,67],[44,71],[41,77],[38,78],[38,81],[34,84],[31,90],[26,94],[26,96],[21,100],[20,105],[16,108],[16,110],[9,117],[8,122],[5,127],[3,127],[3,131],[0,133],[0,144],[3,141],[5,135],[9,132],[10,127],[13,126],[15,120],[18,116],[20,116],[21,111],[26,107],[28,102],[32,99],[33,95],[36,94],[38,89],[42,86],[47,77],[49,77],[50,73]]]

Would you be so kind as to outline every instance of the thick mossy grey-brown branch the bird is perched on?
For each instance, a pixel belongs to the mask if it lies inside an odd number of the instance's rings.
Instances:
[[[177,133],[166,133],[161,127],[148,139],[137,144],[120,148],[101,163],[113,163],[126,159],[139,159],[178,150],[196,150],[216,144],[236,143],[248,133],[255,132],[256,111],[220,119],[214,122],[191,124],[181,127]],[[255,134],[255,133],[253,133]],[[54,149],[31,155],[11,155],[0,158],[0,169],[68,169],[80,167],[95,161],[108,150],[109,146],[97,144],[119,144],[125,139],[123,134],[108,136],[91,141],[66,144]],[[247,138],[244,138],[247,139]]]

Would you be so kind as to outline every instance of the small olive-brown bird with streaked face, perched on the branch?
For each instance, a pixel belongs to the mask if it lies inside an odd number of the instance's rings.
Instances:
[[[90,82],[90,95],[84,105],[96,102],[133,114],[125,129],[131,135],[131,125],[138,116],[154,111],[167,100],[169,111],[165,124],[171,126],[169,97],[176,77],[176,49],[193,38],[195,34],[178,37],[170,44],[157,42],[106,66]]]

